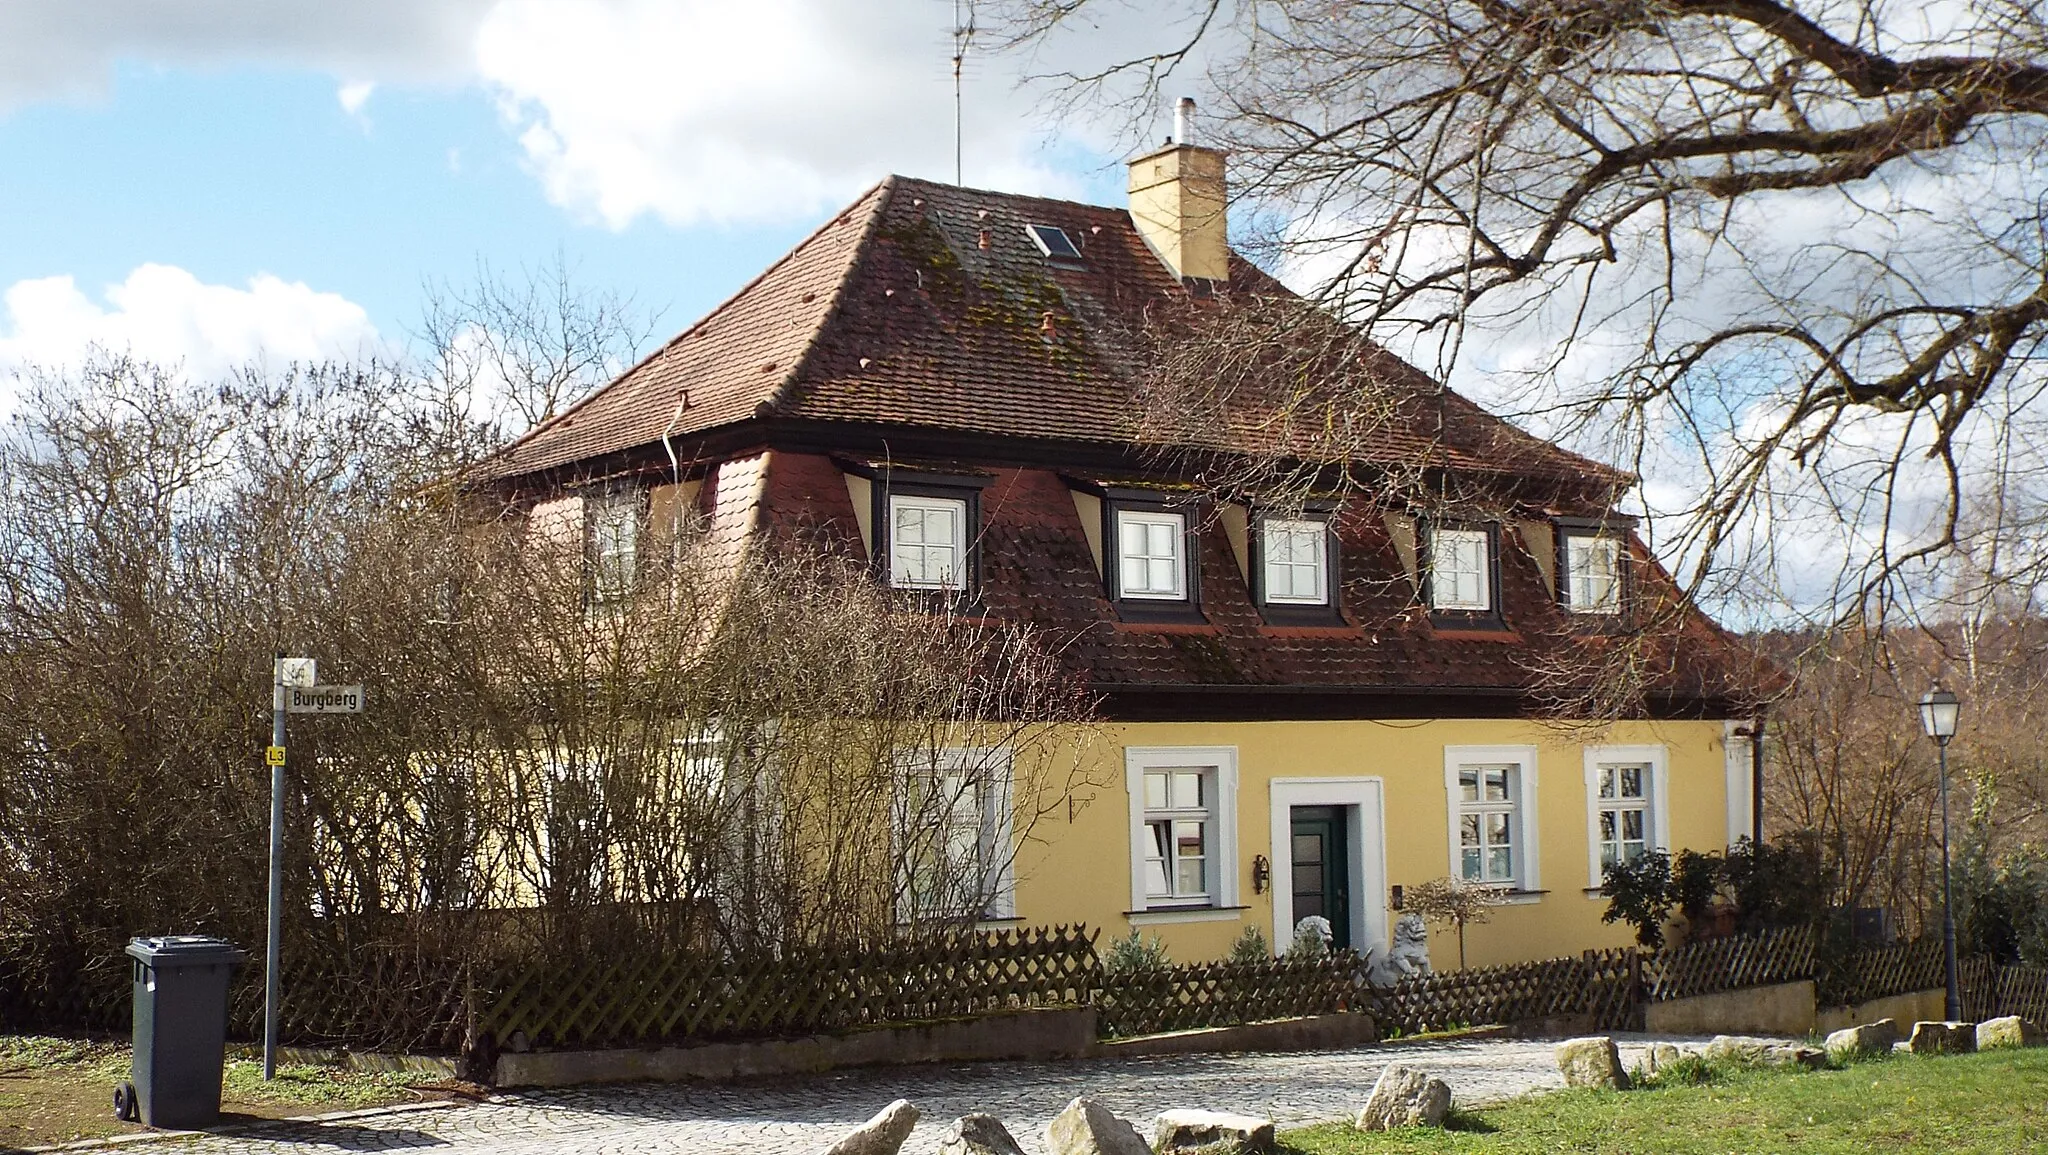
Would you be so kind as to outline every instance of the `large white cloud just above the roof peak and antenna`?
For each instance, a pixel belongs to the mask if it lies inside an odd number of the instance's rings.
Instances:
[[[952,176],[950,20],[934,0],[506,0],[475,59],[557,205],[801,219],[889,172]],[[967,178],[1071,193],[1010,68],[971,72]]]

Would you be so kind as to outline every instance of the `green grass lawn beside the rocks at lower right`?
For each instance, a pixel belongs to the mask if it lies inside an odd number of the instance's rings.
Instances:
[[[1368,1135],[1329,1124],[1282,1141],[1305,1155],[2048,1151],[2048,1049],[1896,1055],[1831,1071],[1688,1067],[1706,1081],[1534,1096],[1454,1112],[1446,1130]]]

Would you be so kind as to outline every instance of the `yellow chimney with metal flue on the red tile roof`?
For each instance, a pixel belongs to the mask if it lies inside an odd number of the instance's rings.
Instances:
[[[1194,100],[1174,111],[1174,143],[1130,162],[1130,221],[1159,260],[1184,281],[1231,274],[1223,154],[1194,137]]]

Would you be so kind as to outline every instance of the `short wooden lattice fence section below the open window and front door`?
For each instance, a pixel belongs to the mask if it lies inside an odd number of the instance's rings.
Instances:
[[[1325,958],[1106,971],[1096,1008],[1100,1030],[1122,1038],[1364,1010],[1366,999],[1364,958],[1339,950]]]

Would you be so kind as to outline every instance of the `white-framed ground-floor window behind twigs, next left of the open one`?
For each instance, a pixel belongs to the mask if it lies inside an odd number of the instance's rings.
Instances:
[[[907,764],[899,817],[905,922],[1014,917],[1010,752],[954,747]]]

